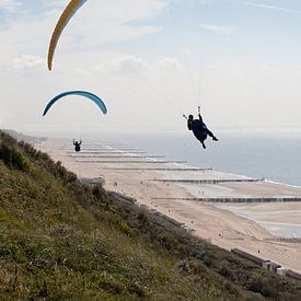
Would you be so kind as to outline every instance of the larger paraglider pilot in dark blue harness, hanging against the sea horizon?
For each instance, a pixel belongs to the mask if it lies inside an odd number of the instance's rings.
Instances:
[[[188,118],[185,115],[183,115],[183,117],[187,120],[188,129],[194,132],[195,137],[200,141],[204,149],[206,149],[204,141],[207,139],[207,136],[210,136],[213,141],[219,140],[202,121],[202,117],[200,116],[200,107],[198,107],[198,119],[194,119],[193,115],[189,115]]]

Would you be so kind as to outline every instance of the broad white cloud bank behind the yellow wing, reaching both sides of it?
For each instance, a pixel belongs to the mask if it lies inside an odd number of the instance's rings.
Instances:
[[[0,27],[0,44],[4,44],[9,49],[9,61],[11,57],[23,54],[44,56],[47,53],[51,32],[67,3],[63,1],[65,4],[61,4],[61,2],[44,0],[32,7],[26,5],[26,11],[13,22],[2,21],[2,24],[7,24]],[[7,11],[14,11],[19,5],[21,2],[15,0],[0,0],[0,9],[5,8]],[[72,54],[76,53],[74,49],[102,51],[104,45],[157,33],[161,28],[148,22],[162,12],[165,5],[165,0],[128,0],[126,2],[104,0],[101,3],[88,1],[63,31],[56,51],[57,54],[60,51],[57,59],[68,60],[70,50]],[[2,56],[2,49],[1,47],[0,56]]]

